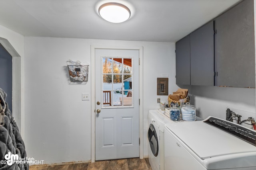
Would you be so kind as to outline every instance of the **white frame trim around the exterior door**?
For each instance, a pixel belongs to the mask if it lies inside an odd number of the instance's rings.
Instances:
[[[95,50],[96,49],[123,49],[139,50],[139,137],[140,158],[143,159],[143,47],[142,46],[115,46],[91,45],[91,162],[95,162]]]

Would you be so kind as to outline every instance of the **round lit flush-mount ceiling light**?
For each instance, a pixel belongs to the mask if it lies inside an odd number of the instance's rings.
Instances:
[[[102,4],[98,12],[104,20],[112,23],[124,22],[131,16],[131,11],[127,6],[116,2]]]

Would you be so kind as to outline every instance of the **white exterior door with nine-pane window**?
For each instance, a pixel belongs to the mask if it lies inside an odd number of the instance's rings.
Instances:
[[[95,158],[139,157],[139,51],[95,49]]]

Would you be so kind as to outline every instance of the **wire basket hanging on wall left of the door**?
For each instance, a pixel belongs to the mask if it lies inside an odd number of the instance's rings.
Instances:
[[[68,72],[71,82],[87,82],[89,65],[74,65],[68,63]]]

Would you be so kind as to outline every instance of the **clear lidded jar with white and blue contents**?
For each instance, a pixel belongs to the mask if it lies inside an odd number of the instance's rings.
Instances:
[[[196,107],[190,103],[181,106],[182,120],[195,121],[196,120]]]

